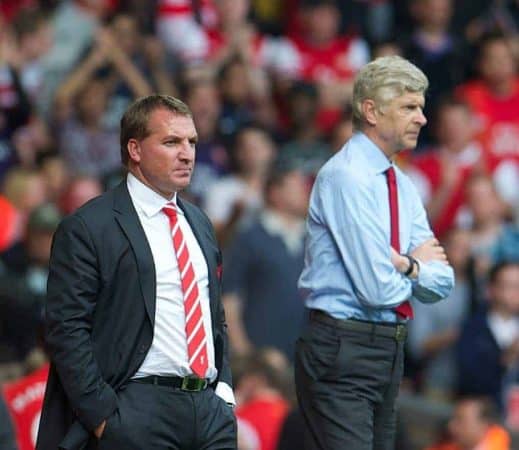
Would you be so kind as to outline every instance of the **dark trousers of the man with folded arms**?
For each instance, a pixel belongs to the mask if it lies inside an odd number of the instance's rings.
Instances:
[[[394,449],[403,327],[311,314],[295,361],[306,450]]]

